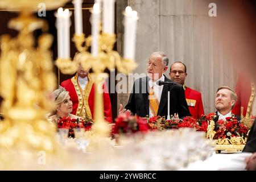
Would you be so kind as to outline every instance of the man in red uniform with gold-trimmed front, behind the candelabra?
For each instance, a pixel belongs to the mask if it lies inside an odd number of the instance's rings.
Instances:
[[[95,88],[89,71],[85,71],[79,64],[76,75],[68,80],[61,82],[61,86],[63,86],[69,92],[69,96],[73,102],[72,114],[82,118],[85,116],[94,118],[93,114]],[[105,117],[112,119],[112,106],[106,82],[104,82],[102,89],[104,90],[104,115]]]

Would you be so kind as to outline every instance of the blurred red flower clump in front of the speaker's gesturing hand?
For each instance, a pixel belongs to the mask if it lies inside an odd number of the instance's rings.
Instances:
[[[128,113],[123,113],[115,119],[113,125],[112,134],[123,134],[123,133],[145,133],[148,131],[147,119],[133,116]]]

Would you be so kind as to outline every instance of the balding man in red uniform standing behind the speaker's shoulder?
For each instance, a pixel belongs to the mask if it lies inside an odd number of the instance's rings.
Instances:
[[[185,98],[187,100],[189,111],[193,118],[200,118],[204,114],[204,107],[201,93],[193,90],[185,85],[185,78],[187,77],[187,67],[184,63],[176,61],[171,65],[170,78],[180,85],[183,85],[185,91]]]

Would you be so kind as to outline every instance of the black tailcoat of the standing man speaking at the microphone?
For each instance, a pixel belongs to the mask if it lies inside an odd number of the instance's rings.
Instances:
[[[149,115],[149,100],[148,100],[148,84],[149,78],[142,77],[135,80],[133,85],[132,93],[130,94],[128,104],[125,106],[125,109],[129,109],[131,113],[137,114],[140,117],[146,117]],[[164,81],[173,82],[164,76]],[[166,117],[168,114],[168,86],[163,86],[162,96],[159,103],[158,115],[161,117]],[[185,116],[191,116],[189,113],[187,101],[185,100],[185,93],[181,85],[171,85],[170,92],[170,115],[174,113],[179,114],[179,118]]]

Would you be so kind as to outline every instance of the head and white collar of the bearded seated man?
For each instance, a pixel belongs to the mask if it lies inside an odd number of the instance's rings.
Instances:
[[[232,109],[237,101],[237,94],[228,86],[218,88],[215,98],[215,108],[218,119],[226,121],[227,117],[232,117]],[[239,116],[236,116],[240,120]]]

